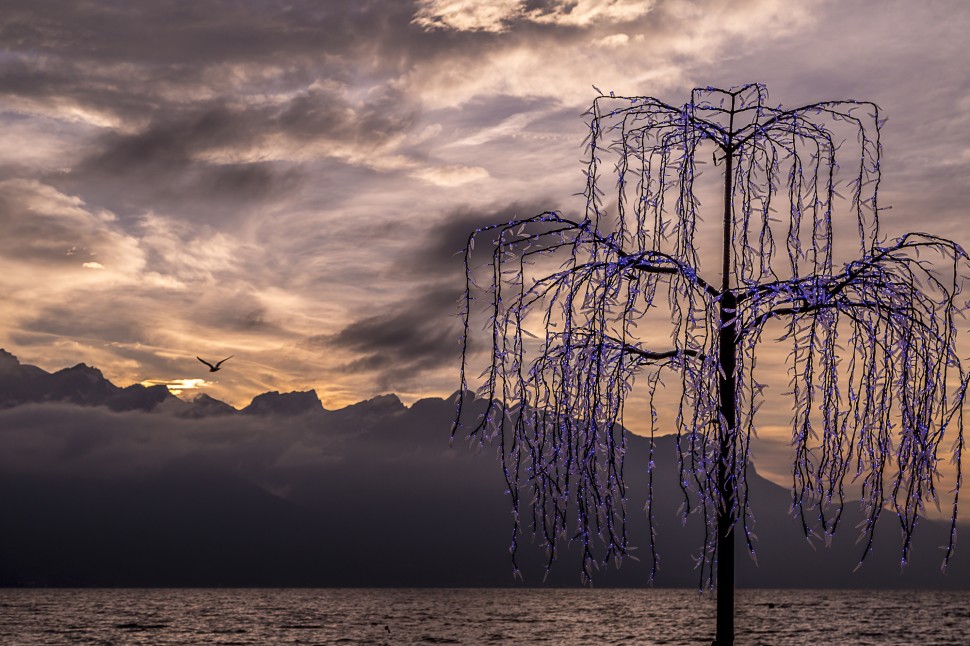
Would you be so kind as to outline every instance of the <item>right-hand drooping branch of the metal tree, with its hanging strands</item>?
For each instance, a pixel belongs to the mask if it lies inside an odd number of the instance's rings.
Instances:
[[[920,251],[948,259],[948,279],[921,260]],[[743,298],[739,316],[747,335],[760,336],[770,319],[790,319],[779,340],[796,342],[789,357],[796,393],[793,504],[806,534],[812,532],[806,504],[817,510],[826,540],[835,533],[843,481],[851,470],[853,479],[863,478],[863,558],[872,548],[875,522],[891,502],[903,533],[901,559],[908,560],[923,501],[937,498],[937,446],[958,414],[948,391],[953,380],[966,379],[954,321],[946,312],[954,309],[959,268],[967,261],[958,245],[909,234],[870,258],[848,263],[842,272],[759,285]],[[848,349],[837,343],[845,332]],[[840,359],[848,361],[847,368],[840,368]],[[895,395],[887,397],[887,388]],[[818,420],[821,429],[815,427],[813,409],[825,411]],[[870,435],[870,429],[894,426],[899,428],[895,446],[888,436]],[[853,441],[843,450],[835,440],[846,437]],[[822,439],[821,446],[810,446],[815,438]],[[884,470],[894,460],[898,470],[886,492]],[[833,499],[837,504],[826,517]],[[948,553],[952,547],[946,547]]]

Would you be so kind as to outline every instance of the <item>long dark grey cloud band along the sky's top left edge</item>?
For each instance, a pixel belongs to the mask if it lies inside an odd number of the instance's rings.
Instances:
[[[105,97],[157,100],[160,88],[246,84],[249,75],[276,89],[307,86],[321,71],[346,83],[362,61],[375,77],[396,75],[416,60],[473,55],[471,45],[482,40],[424,32],[411,24],[413,13],[411,2],[358,0],[130,6],[13,0],[0,24],[8,52],[0,63],[0,92],[70,96],[110,109]],[[114,113],[130,114],[125,104]]]

